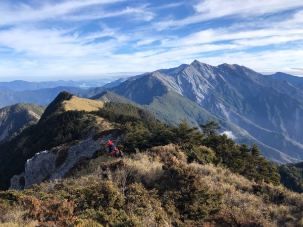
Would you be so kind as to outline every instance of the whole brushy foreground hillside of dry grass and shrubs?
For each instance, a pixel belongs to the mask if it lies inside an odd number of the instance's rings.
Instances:
[[[83,163],[24,191],[0,192],[2,226],[301,226],[303,196],[254,183],[180,147]]]

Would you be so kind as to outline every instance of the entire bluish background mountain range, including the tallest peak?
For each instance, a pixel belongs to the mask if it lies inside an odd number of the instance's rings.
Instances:
[[[17,92],[10,95],[17,98],[9,104],[48,104],[67,90],[78,97],[136,105],[172,125],[182,119],[192,126],[215,120],[222,133],[239,143],[257,143],[269,159],[296,162],[303,159],[301,81],[283,73],[262,75],[244,66],[211,66],[195,60],[87,90],[60,87],[23,91],[26,95]],[[8,103],[9,99],[3,100]]]

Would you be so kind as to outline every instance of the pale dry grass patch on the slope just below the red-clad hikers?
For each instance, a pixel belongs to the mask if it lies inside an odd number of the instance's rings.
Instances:
[[[102,170],[100,163],[111,163],[115,165],[117,162],[123,162],[114,171]],[[125,184],[144,183],[146,186],[152,187],[163,175],[163,163],[160,158],[154,158],[148,153],[139,153],[125,155],[123,158],[112,158],[109,154],[105,154],[90,160],[89,164],[77,171],[72,177],[74,180],[69,180],[69,184],[89,185],[94,181],[112,181],[122,191]],[[105,178],[106,176],[106,178]],[[74,181],[74,182],[71,182]]]

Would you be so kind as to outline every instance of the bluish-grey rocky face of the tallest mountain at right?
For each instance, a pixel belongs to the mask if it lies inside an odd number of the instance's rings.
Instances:
[[[295,86],[243,66],[198,61],[170,80],[158,78],[260,142],[303,159],[303,94]]]

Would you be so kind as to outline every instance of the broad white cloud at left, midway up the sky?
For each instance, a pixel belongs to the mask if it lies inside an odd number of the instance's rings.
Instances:
[[[103,42],[94,42],[97,38],[110,37]],[[0,45],[12,48],[15,53],[38,57],[73,57],[93,54],[110,54],[130,37],[119,34],[115,30],[101,29],[100,32],[88,33],[83,36],[71,34],[71,30],[36,29],[14,27],[0,30]]]

